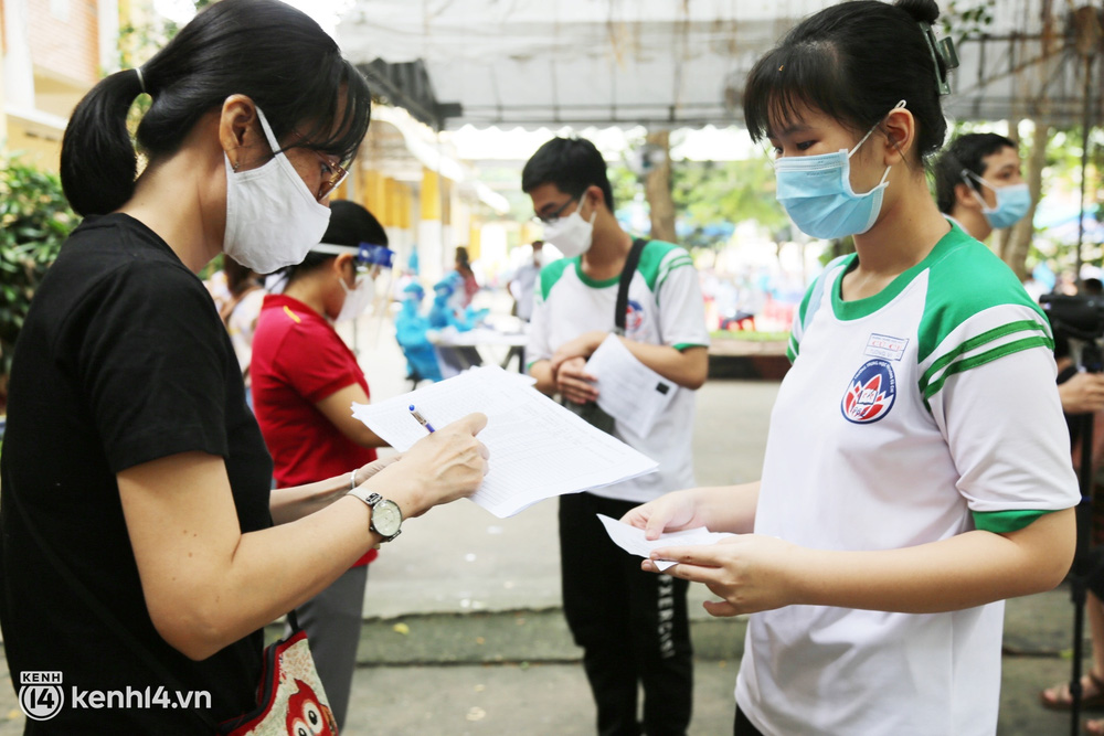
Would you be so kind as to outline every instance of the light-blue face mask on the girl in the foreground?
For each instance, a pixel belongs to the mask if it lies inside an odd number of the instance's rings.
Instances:
[[[904,100],[893,109],[901,107]],[[892,167],[885,167],[877,186],[856,194],[851,190],[851,157],[877,128],[867,131],[850,151],[845,148],[835,153],[775,160],[778,202],[803,233],[836,238],[866,233],[873,226],[882,209],[885,179]]]

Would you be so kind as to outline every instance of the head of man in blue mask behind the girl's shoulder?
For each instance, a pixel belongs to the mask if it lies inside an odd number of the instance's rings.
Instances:
[[[1031,209],[1016,143],[995,132],[957,136],[935,162],[940,212],[979,241],[1011,227]]]

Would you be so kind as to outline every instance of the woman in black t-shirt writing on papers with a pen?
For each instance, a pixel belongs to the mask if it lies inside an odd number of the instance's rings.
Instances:
[[[136,178],[126,117],[141,93]],[[63,695],[26,733],[193,734],[241,715],[262,627],[393,537],[396,511],[481,481],[486,418],[471,415],[385,468],[269,493],[272,460],[195,276],[222,252],[257,273],[301,260],[370,105],[309,18],[222,0],[74,111],[62,181],[85,221],[17,344],[0,460],[12,681],[54,673]]]

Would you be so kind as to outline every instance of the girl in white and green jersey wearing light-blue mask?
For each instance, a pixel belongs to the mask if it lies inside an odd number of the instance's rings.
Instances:
[[[936,209],[953,54],[933,0],[858,0],[749,75],[747,127],[807,234],[853,235],[806,295],[757,483],[625,520],[739,535],[658,550],[751,614],[736,734],[992,734],[1002,601],[1054,587],[1080,499],[1045,317]],[[645,561],[645,569],[655,569]]]

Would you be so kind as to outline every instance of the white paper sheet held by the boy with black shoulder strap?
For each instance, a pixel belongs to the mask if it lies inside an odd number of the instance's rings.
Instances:
[[[597,378],[603,412],[645,437],[671,403],[679,387],[641,363],[617,337],[611,334],[586,361],[586,372]]]

